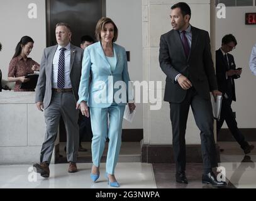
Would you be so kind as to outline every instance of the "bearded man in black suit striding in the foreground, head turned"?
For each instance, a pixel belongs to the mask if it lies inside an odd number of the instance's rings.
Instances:
[[[185,133],[191,106],[201,131],[204,166],[202,182],[226,185],[225,182],[219,182],[212,171],[218,165],[209,92],[214,97],[221,95],[221,92],[218,91],[214,74],[209,34],[191,26],[190,18],[191,9],[186,3],[175,4],[170,14],[173,30],[160,38],[159,62],[167,75],[164,100],[170,102],[176,181],[187,183]]]

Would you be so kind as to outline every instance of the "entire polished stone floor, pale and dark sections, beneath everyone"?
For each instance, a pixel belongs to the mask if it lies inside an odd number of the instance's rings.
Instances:
[[[226,175],[227,188],[256,188],[256,150],[245,156],[235,142],[218,144],[224,149],[221,152],[220,166]],[[81,152],[79,155],[89,156],[90,146],[84,145],[88,152]],[[137,162],[140,154],[138,146],[138,143],[122,144],[120,156],[123,161],[116,166],[115,174],[121,188],[213,188],[201,183],[201,163],[187,164],[189,184],[181,185],[175,182],[174,164]],[[47,179],[34,173],[31,164],[0,165],[0,188],[112,188],[107,185],[103,176],[105,165],[106,163],[101,163],[101,177],[96,183],[92,183],[89,177],[91,163],[77,163],[77,173],[68,173],[67,163],[52,164],[50,178]]]

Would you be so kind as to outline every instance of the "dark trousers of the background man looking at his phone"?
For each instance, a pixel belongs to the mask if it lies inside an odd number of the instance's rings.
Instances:
[[[220,121],[217,121],[217,135],[220,134],[221,126],[223,125],[223,122],[226,121],[228,129],[230,129],[233,137],[240,144],[241,148],[245,149],[245,147],[248,146],[248,143],[245,141],[245,136],[243,136],[237,127],[237,121],[235,120],[235,116],[233,115],[233,111],[231,109],[231,102],[231,99],[223,98],[222,100]]]

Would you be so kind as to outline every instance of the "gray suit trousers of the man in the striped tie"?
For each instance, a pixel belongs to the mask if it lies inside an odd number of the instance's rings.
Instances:
[[[79,146],[79,126],[77,124],[79,111],[75,109],[76,102],[72,92],[52,92],[50,105],[45,109],[46,133],[43,142],[40,162],[50,163],[52,151],[58,133],[58,124],[62,116],[67,131],[67,161],[77,161]]]

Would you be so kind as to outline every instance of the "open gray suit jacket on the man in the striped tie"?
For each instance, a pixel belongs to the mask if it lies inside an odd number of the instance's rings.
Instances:
[[[35,102],[43,102],[45,109],[50,105],[52,99],[52,62],[57,46],[45,48],[40,65],[40,74],[36,84]],[[79,83],[82,70],[82,48],[70,44],[70,81],[74,94],[74,99],[77,101]]]

